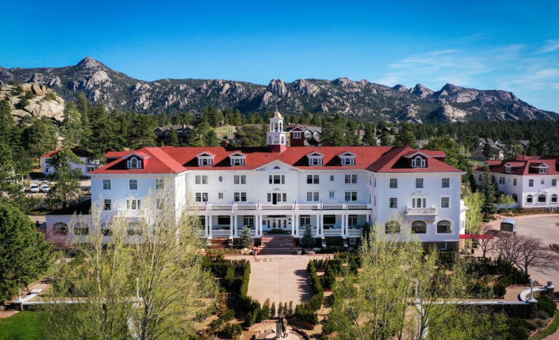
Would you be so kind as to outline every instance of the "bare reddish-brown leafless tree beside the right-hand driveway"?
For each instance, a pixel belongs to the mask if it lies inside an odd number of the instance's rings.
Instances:
[[[528,267],[559,269],[559,256],[538,238],[509,234],[495,242],[498,255],[528,274]]]

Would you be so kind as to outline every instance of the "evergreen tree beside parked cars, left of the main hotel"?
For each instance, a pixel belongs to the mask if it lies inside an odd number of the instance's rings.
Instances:
[[[46,194],[46,201],[51,207],[61,204],[63,208],[66,208],[70,200],[79,197],[79,177],[82,172],[80,169],[73,169],[72,164],[81,163],[79,157],[68,148],[61,149],[49,158],[48,164],[54,169],[54,172],[49,175],[49,179],[54,181],[54,185]]]

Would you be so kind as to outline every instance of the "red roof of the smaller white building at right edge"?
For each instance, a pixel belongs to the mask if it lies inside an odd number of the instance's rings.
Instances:
[[[489,171],[495,174],[511,174],[511,175],[559,175],[559,156],[544,155],[544,156],[525,156],[524,160],[498,160],[498,161],[485,161],[489,165]],[[539,173],[539,166],[546,164],[547,174]],[[510,173],[506,172],[506,165],[510,165]],[[484,166],[478,166],[476,171],[484,171]]]

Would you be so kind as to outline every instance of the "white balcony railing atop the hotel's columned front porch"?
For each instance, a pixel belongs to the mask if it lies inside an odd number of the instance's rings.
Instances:
[[[371,204],[233,204],[233,210],[367,210]],[[231,204],[191,204],[188,210],[231,210]]]

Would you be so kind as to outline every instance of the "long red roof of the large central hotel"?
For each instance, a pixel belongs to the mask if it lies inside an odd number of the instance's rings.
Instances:
[[[427,167],[411,168],[407,166],[406,159],[402,155],[418,150],[409,147],[390,146],[322,146],[322,147],[288,147],[283,152],[269,152],[266,147],[144,147],[136,151],[107,152],[120,156],[119,159],[91,171],[91,174],[163,174],[181,173],[186,170],[253,170],[266,165],[272,161],[281,161],[297,169],[368,169],[378,172],[462,172],[444,162],[429,158]],[[235,152],[242,152],[245,157],[245,165],[231,166],[229,156]],[[307,155],[319,152],[324,155],[323,165],[309,166]],[[355,154],[355,165],[340,165],[339,156],[351,152]],[[441,155],[440,151],[421,151],[429,156]],[[198,166],[197,155],[215,155],[212,166]],[[127,155],[146,154],[144,169],[126,169]],[[444,153],[443,153],[444,155]],[[406,164],[402,165],[402,161]]]

